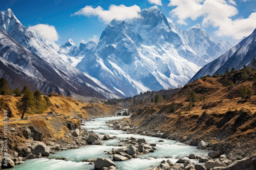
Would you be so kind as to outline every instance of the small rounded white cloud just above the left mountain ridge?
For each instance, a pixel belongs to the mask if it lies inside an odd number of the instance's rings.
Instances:
[[[57,41],[59,39],[58,32],[53,25],[48,24],[37,24],[28,27],[31,30],[38,31],[38,33],[49,40]]]

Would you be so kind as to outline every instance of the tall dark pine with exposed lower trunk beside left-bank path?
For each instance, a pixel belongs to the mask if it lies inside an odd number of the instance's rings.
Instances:
[[[26,86],[25,86],[26,87]],[[24,89],[24,88],[23,88]],[[21,119],[28,109],[33,109],[35,106],[34,94],[29,89],[23,90],[23,97],[20,101],[19,111],[22,113]]]

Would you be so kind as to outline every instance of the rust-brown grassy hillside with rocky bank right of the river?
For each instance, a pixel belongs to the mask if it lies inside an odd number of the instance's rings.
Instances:
[[[220,153],[256,153],[256,75],[255,72],[248,74],[246,80],[239,71],[195,80],[162,104],[151,103],[146,109],[131,110],[133,115],[129,121],[148,133],[157,129],[167,133],[170,139],[190,145],[207,141],[208,147]],[[227,82],[235,85],[226,86]],[[198,96],[194,107],[188,100],[188,86]],[[244,87],[250,96],[241,98]],[[235,148],[237,143],[240,148]]]

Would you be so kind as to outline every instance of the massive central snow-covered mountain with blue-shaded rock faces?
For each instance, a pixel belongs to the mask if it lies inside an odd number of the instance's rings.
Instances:
[[[112,20],[97,47],[76,66],[125,96],[185,85],[205,64],[231,48],[197,24],[185,31],[157,6],[141,18]]]

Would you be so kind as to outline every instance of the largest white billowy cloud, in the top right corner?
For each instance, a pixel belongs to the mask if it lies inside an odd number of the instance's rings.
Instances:
[[[210,25],[218,28],[217,36],[229,36],[241,39],[250,35],[256,28],[256,12],[251,13],[248,18],[231,19],[238,14],[238,9],[233,1],[225,0],[169,0],[168,6],[176,6],[170,15],[178,18],[179,24],[185,24],[186,19],[196,20],[202,17],[202,26]]]

